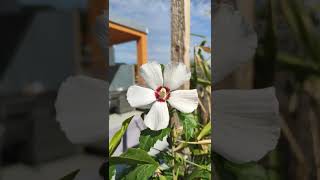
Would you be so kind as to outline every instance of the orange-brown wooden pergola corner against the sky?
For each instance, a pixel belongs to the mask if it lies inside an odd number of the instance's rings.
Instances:
[[[130,41],[137,42],[137,64],[147,62],[147,31],[109,20],[109,47]]]

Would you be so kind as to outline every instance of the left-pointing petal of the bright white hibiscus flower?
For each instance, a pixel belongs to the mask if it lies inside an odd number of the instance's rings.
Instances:
[[[154,102],[156,97],[152,89],[133,85],[127,91],[127,100],[131,107],[140,107]]]

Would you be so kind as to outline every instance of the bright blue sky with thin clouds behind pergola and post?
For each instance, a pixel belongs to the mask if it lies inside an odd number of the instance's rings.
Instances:
[[[210,0],[191,0],[191,33],[211,40]],[[133,20],[148,27],[148,59],[170,61],[170,0],[110,0],[110,16]],[[191,37],[191,47],[201,38]],[[135,42],[115,46],[116,62],[136,63]]]

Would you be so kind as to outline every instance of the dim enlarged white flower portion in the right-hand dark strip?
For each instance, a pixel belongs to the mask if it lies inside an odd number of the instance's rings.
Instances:
[[[257,35],[238,11],[221,4],[213,17],[213,82],[223,80],[248,62]],[[280,136],[278,100],[274,88],[217,90],[213,102],[213,150],[226,159],[257,161],[274,149]]]

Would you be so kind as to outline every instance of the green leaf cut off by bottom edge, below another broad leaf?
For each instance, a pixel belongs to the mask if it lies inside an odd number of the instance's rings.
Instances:
[[[158,166],[154,164],[142,164],[131,171],[125,179],[128,180],[148,180],[157,170]]]

